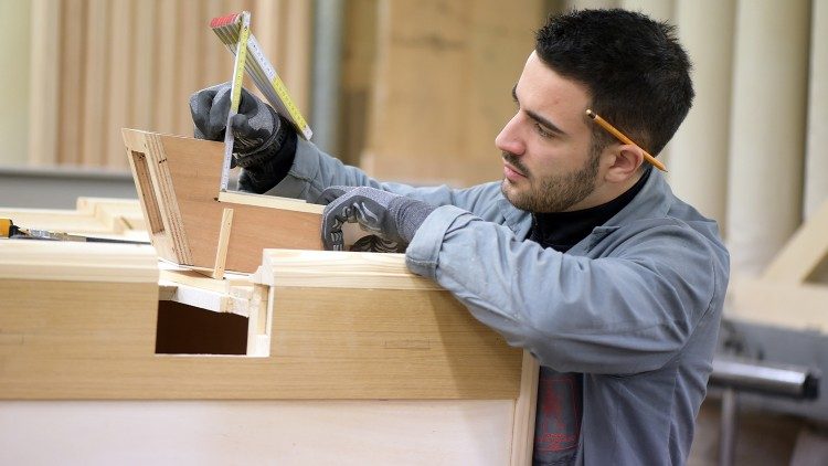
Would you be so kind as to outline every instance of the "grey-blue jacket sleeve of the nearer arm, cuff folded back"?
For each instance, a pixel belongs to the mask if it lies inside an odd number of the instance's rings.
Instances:
[[[728,266],[679,221],[647,225],[626,240],[622,231],[608,234],[618,240],[601,241],[605,257],[562,254],[444,206],[417,231],[406,263],[543,366],[656,370],[679,353],[703,316],[721,313]]]

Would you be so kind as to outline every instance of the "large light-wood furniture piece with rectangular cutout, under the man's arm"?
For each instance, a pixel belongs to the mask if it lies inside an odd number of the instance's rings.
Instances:
[[[402,255],[267,250],[262,262],[253,276],[214,280],[159,273],[149,246],[0,242],[8,305],[0,313],[0,409],[22,412],[23,428],[53,426],[39,436],[52,443],[87,417],[124,425],[136,416],[118,417],[118,410],[144,417],[153,406],[129,400],[169,400],[164,412],[195,422],[188,406],[257,400],[255,417],[215,425],[202,442],[173,443],[176,457],[198,457],[203,442],[238,435],[242,425],[245,436],[266,436],[254,445],[285,464],[330,462],[331,448],[342,464],[530,464],[537,362],[448,292],[408,273]],[[155,354],[159,296],[247,315],[248,356]],[[53,401],[43,411],[34,400]],[[78,400],[117,403],[76,410]],[[227,406],[241,413],[245,405]],[[248,428],[265,419],[266,432]],[[169,443],[153,435],[191,431],[159,422],[136,451],[147,451],[149,438],[163,452]],[[0,437],[20,428],[0,423]],[[73,441],[83,445],[73,457],[94,462],[106,448],[97,438]],[[32,457],[26,445],[2,454]]]

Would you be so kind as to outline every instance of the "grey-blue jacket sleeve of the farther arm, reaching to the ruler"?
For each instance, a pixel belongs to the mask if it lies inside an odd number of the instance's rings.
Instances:
[[[381,183],[355,167],[319,150],[304,139],[297,141],[296,157],[285,179],[266,192],[269,195],[304,199],[316,202],[319,194],[332,186],[367,186],[418,199],[431,205],[457,205],[469,212],[490,205],[500,192],[493,184],[479,184],[468,189],[452,189],[447,186],[415,188],[402,183]],[[481,214],[482,212],[476,212]]]

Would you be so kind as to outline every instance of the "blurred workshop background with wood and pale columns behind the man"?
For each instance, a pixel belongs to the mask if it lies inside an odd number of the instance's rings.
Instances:
[[[135,197],[120,128],[192,135],[189,95],[233,66],[208,23],[241,10],[320,147],[384,180],[498,179],[493,139],[533,31],[607,7],[676,24],[693,61],[694,106],[659,158],[746,284],[722,351],[828,367],[828,0],[0,0],[0,205]],[[806,226],[807,272],[769,273]],[[720,399],[712,388],[690,464],[718,460]],[[740,402],[736,464],[828,451],[825,396]]]

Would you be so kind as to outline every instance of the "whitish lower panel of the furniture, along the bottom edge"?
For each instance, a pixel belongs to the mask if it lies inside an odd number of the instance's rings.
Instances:
[[[71,458],[108,465],[117,458],[166,465],[174,458],[178,465],[529,465],[509,463],[511,405],[508,400],[0,401],[0,464],[61,465]]]

